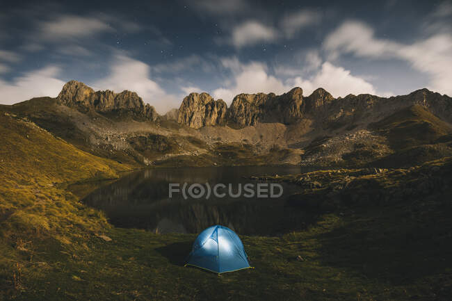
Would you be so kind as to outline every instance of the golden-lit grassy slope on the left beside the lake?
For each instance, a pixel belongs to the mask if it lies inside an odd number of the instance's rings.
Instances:
[[[27,250],[35,239],[71,245],[81,234],[108,227],[101,213],[80,204],[63,184],[117,178],[129,168],[5,113],[0,115],[0,140],[1,288],[20,261],[18,250]]]

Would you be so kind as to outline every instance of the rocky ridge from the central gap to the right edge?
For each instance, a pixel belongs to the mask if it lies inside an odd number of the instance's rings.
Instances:
[[[209,99],[206,103],[205,99]],[[179,124],[199,129],[205,126],[228,125],[235,129],[255,126],[257,123],[296,124],[300,120],[312,120],[319,127],[357,127],[385,117],[394,111],[412,105],[421,105],[452,122],[452,99],[447,95],[421,89],[396,97],[376,95],[347,95],[334,98],[318,88],[303,97],[301,88],[293,88],[282,95],[274,93],[239,94],[227,108],[223,100],[216,101],[207,93],[199,97],[192,93],[179,108]]]

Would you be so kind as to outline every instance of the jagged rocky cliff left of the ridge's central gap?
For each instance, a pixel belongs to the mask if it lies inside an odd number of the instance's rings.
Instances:
[[[143,99],[136,92],[128,90],[120,93],[111,90],[95,91],[79,81],[67,82],[57,99],[61,104],[80,108],[83,111],[125,112],[153,121],[159,116],[155,108],[149,104],[144,104]]]

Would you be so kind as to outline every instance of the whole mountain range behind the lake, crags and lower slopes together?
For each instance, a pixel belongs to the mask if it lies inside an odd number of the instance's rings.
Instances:
[[[283,95],[237,95],[229,108],[204,92],[191,93],[163,116],[148,115],[148,107],[133,92],[94,92],[70,81],[57,99],[0,111],[131,165],[410,165],[451,152],[452,99],[427,89],[335,99],[322,88],[307,97],[293,88]],[[405,160],[396,159],[399,154]]]

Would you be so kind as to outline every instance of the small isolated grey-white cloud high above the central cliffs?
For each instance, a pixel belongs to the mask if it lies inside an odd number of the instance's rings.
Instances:
[[[235,47],[240,48],[258,42],[273,42],[277,38],[278,33],[272,27],[256,21],[248,21],[233,29],[231,42]]]

